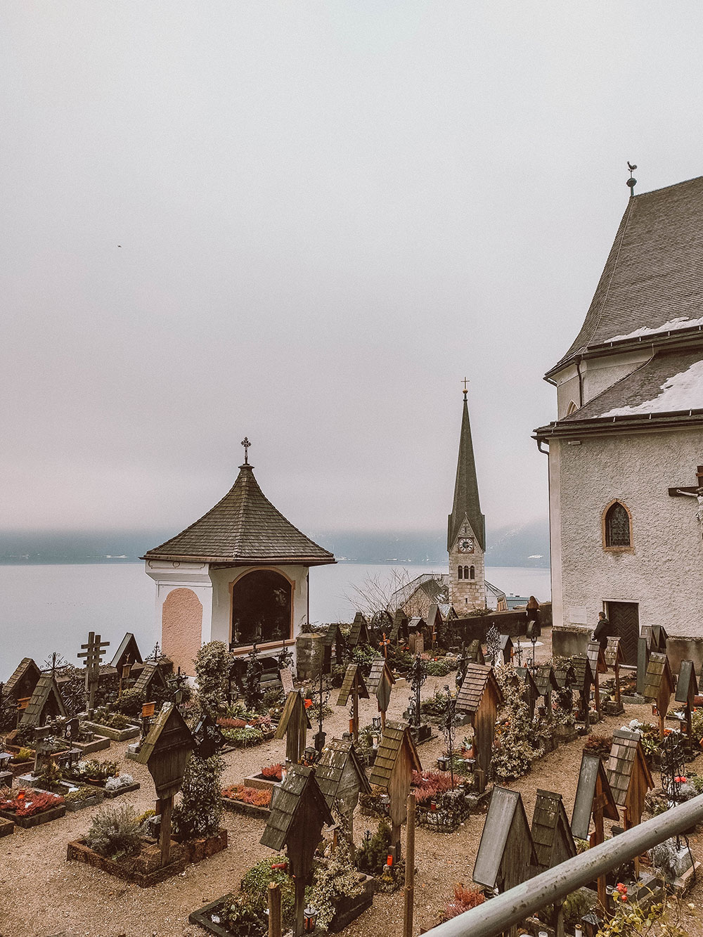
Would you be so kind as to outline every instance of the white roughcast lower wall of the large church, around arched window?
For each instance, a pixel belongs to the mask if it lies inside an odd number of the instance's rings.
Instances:
[[[604,601],[637,602],[640,628],[662,624],[670,635],[703,635],[696,501],[667,492],[696,483],[703,430],[580,441],[550,446],[555,624],[585,619],[594,626]],[[602,515],[614,498],[632,515],[631,553],[603,548]]]

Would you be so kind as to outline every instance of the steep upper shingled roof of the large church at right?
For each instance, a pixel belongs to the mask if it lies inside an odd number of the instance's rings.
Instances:
[[[628,199],[580,332],[577,355],[640,328],[696,320],[703,307],[703,177]],[[675,333],[676,334],[676,333]],[[651,341],[651,336],[643,336]]]

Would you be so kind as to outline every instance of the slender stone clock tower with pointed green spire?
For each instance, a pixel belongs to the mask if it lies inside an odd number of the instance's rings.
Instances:
[[[465,381],[454,504],[447,524],[449,601],[459,616],[486,608],[486,518],[478,499],[467,394]]]

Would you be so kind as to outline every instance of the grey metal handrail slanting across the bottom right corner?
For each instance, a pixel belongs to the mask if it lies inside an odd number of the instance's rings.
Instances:
[[[621,866],[657,843],[703,821],[703,794],[593,846],[510,891],[438,924],[432,937],[498,937],[532,912],[565,898],[606,871]]]

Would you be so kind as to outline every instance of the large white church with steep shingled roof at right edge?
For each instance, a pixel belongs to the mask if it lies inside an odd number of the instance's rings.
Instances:
[[[555,653],[606,612],[703,662],[703,177],[634,195],[574,343],[546,374]]]

